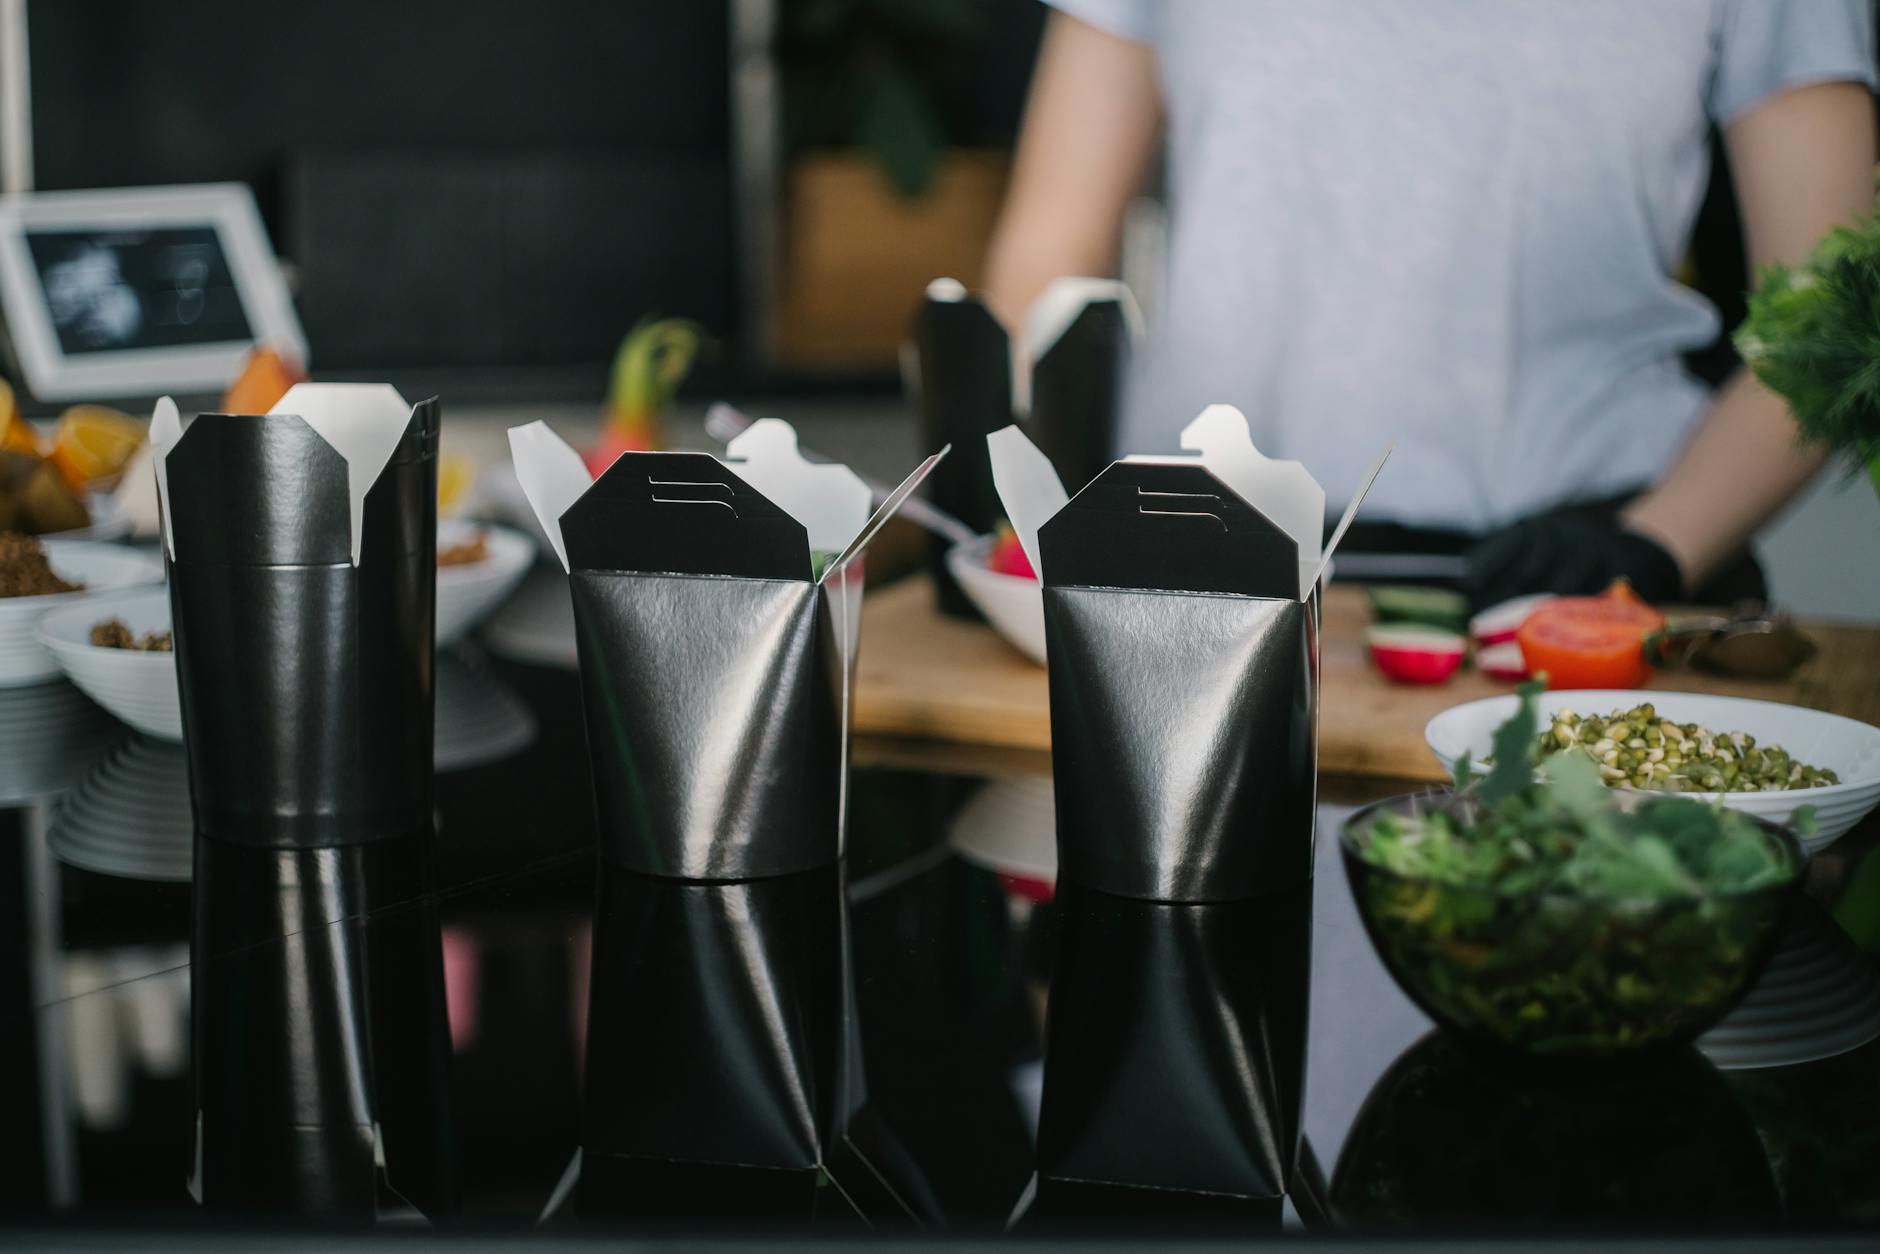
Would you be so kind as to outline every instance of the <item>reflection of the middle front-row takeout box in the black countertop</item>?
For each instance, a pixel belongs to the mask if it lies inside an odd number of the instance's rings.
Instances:
[[[585,1218],[931,1209],[867,1104],[838,867],[733,884],[603,869],[590,989]]]

